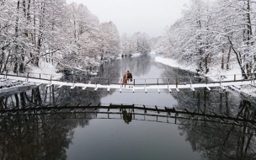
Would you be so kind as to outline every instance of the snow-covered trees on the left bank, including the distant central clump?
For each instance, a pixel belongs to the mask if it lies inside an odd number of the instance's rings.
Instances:
[[[113,22],[100,23],[83,4],[65,0],[0,1],[0,72],[26,72],[51,62],[60,69],[97,67],[131,52],[146,53],[149,36],[124,35]],[[147,46],[147,48],[146,48]],[[144,48],[143,48],[144,47]]]

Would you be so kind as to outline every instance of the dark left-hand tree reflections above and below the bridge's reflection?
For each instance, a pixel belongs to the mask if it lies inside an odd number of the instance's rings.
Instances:
[[[57,104],[99,104],[100,94],[69,88],[40,88],[5,95],[0,98],[1,109],[19,107],[54,106]],[[93,109],[88,109],[92,111]],[[84,127],[95,114],[39,115],[29,111],[27,115],[0,116],[0,156],[2,159],[66,159],[66,149],[72,142],[73,129]],[[86,119],[84,118],[86,117]],[[74,118],[73,120],[70,120]]]

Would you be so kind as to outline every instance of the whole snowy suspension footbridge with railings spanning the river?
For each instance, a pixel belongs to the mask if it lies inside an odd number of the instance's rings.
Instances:
[[[72,89],[82,88],[83,90],[93,88],[94,91],[97,91],[99,88],[106,89],[107,91],[110,91],[110,89],[119,89],[120,93],[122,90],[131,90],[133,93],[138,90],[143,90],[147,93],[149,89],[153,89],[159,93],[161,89],[167,89],[168,92],[179,92],[179,90],[183,88],[189,88],[192,91],[195,91],[195,88],[207,88],[210,91],[211,88],[221,88],[225,90],[225,87],[239,91],[239,86],[251,85],[255,87],[254,78],[237,80],[237,75],[215,76],[215,79],[219,79],[218,81],[212,81],[212,77],[134,78],[131,83],[126,84],[122,83],[122,79],[112,79],[109,77],[94,77],[89,80],[83,80],[83,78],[81,79],[80,77],[79,81],[77,81],[77,77],[74,77],[72,82],[64,82],[63,80],[58,80],[55,75],[49,75],[48,78],[42,78],[40,73],[38,73],[38,75],[39,77],[30,77],[29,73],[27,73],[26,76],[20,76],[18,74],[11,75],[6,72],[5,74],[0,74],[0,78],[1,82],[9,79],[13,82],[21,81],[23,85],[29,83],[36,85],[47,84],[47,86],[57,85],[57,88],[61,88],[62,86],[67,86]],[[225,80],[223,77],[232,77],[229,78],[232,80]],[[195,79],[200,79],[200,82],[195,81]]]

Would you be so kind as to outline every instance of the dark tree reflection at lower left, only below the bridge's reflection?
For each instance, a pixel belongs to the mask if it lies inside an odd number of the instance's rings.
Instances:
[[[41,116],[1,117],[0,155],[2,159],[67,159],[72,142],[72,121]]]

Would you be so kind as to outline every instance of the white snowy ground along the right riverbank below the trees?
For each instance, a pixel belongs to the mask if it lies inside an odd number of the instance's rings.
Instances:
[[[163,63],[165,65],[168,65],[170,67],[179,67],[184,70],[189,70],[191,72],[196,72],[194,66],[184,66],[180,64],[178,61],[173,60],[171,58],[165,57],[165,56],[157,56],[155,57],[155,61]],[[236,75],[236,76],[234,76]],[[204,75],[205,77],[210,77],[211,79],[215,81],[219,81],[222,77],[223,81],[229,81],[234,80],[234,77],[236,77],[236,80],[242,79],[242,74],[240,71],[240,68],[238,65],[234,64],[231,66],[231,69],[229,71],[221,71],[221,67],[215,67],[214,69],[211,69],[211,72]],[[238,92],[248,93],[249,95],[256,97],[256,88],[255,86],[256,81],[252,81],[252,85],[245,85],[245,86],[235,86],[235,88],[239,88]]]

